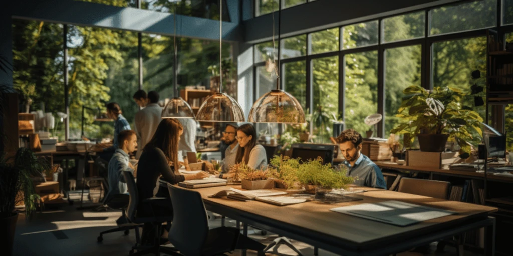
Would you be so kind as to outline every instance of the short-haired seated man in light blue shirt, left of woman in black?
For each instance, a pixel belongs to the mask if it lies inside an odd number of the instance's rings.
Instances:
[[[127,184],[123,172],[134,172],[134,167],[130,163],[128,154],[135,151],[137,146],[137,136],[134,131],[126,130],[120,132],[117,137],[119,148],[109,162],[109,197],[119,194],[127,194]],[[134,174],[135,176],[135,174]]]

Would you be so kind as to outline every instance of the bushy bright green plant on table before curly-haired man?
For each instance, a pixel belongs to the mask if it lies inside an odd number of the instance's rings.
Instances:
[[[308,194],[315,194],[316,188],[331,190],[333,188],[347,188],[354,182],[352,177],[346,176],[346,168],[333,169],[331,164],[322,164],[322,159],[309,160],[299,165],[296,172],[298,181],[304,185]]]

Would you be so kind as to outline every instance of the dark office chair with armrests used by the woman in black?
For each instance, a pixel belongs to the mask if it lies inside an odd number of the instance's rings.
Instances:
[[[157,232],[155,236],[155,241],[158,241],[161,236],[162,231],[162,223],[163,222],[171,222],[173,220],[173,216],[152,216],[152,217],[136,217],[136,209],[139,205],[139,193],[137,192],[137,186],[135,185],[135,179],[131,172],[123,172],[125,176],[125,181],[127,183],[128,194],[130,196],[130,200],[127,208],[127,219],[132,224],[144,224],[144,223],[152,223],[157,227]],[[159,207],[163,204],[170,203],[169,198],[148,198],[144,200],[142,203],[149,205],[151,208]],[[136,231],[138,232],[138,231]],[[137,252],[134,253],[134,250]],[[177,251],[170,247],[160,246],[159,243],[154,243],[153,246],[142,246],[139,241],[137,241],[136,245],[132,247],[130,250],[130,255],[145,255],[145,254],[155,254],[160,255],[160,252],[170,254],[170,255],[179,255]]]

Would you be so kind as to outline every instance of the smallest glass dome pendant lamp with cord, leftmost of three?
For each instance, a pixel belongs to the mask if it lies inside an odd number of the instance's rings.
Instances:
[[[176,4],[178,5],[178,4]],[[174,60],[173,60],[173,83],[174,83],[174,98],[171,99],[164,110],[162,111],[162,119],[167,118],[192,118],[194,119],[194,112],[191,106],[178,94],[178,51],[176,49],[176,15],[178,8],[174,12]]]

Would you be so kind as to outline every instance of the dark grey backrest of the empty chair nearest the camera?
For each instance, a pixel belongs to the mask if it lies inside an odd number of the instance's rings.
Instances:
[[[187,256],[201,255],[208,236],[208,217],[200,193],[167,184],[173,204],[169,242]]]

